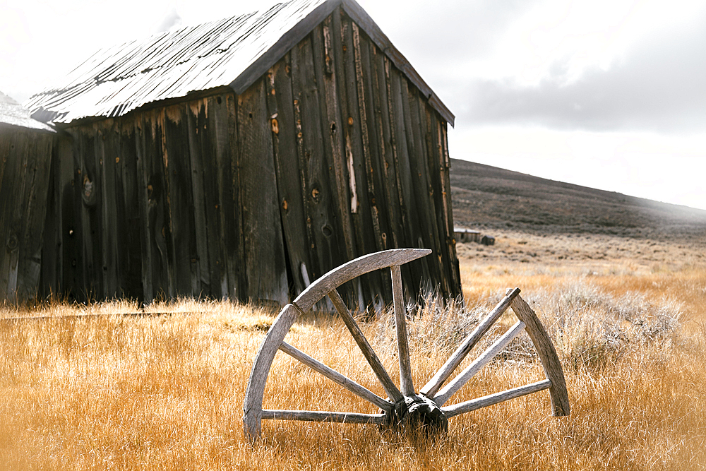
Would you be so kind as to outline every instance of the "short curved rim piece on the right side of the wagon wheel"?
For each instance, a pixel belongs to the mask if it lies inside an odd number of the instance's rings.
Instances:
[[[534,348],[537,349],[539,359],[542,360],[542,367],[546,377],[551,381],[549,396],[551,397],[551,415],[561,416],[570,414],[568,393],[566,391],[566,381],[564,381],[561,362],[556,356],[554,344],[549,338],[549,334],[544,330],[544,326],[534,314],[532,308],[521,297],[516,297],[510,304],[520,321],[527,324],[527,335],[530,335]]]

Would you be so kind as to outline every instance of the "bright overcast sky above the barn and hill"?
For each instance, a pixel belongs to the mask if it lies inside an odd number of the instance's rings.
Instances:
[[[0,0],[23,102],[96,49],[272,0]],[[452,157],[706,209],[706,1],[359,0],[456,115]]]

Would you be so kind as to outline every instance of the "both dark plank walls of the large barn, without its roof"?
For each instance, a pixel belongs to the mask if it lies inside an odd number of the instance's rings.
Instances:
[[[241,95],[66,129],[52,168],[44,292],[287,302],[357,256],[460,294],[446,122],[340,8]],[[388,273],[342,288],[391,301]]]

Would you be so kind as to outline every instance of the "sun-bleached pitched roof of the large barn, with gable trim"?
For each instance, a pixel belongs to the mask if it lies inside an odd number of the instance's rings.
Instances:
[[[150,102],[230,86],[243,93],[341,6],[452,126],[453,114],[354,0],[290,0],[264,13],[189,26],[90,56],[64,83],[25,102],[32,117],[118,117]]]

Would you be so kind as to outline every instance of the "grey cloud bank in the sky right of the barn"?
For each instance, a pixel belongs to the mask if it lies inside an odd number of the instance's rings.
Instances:
[[[474,80],[465,124],[541,124],[592,131],[700,131],[706,126],[706,18],[701,28],[650,37],[609,70],[565,84],[563,66],[536,87]]]

